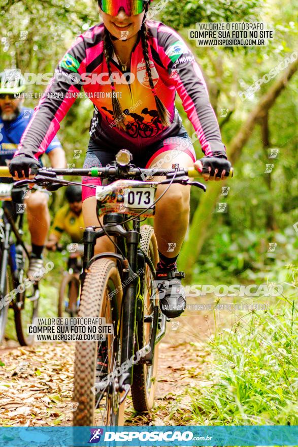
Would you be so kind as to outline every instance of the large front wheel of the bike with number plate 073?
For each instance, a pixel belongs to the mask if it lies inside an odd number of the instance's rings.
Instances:
[[[97,354],[105,352],[106,374],[120,366],[122,288],[118,269],[113,261],[98,259],[91,264],[84,279],[78,317],[105,317],[106,324],[113,324],[113,334],[105,342],[77,341],[74,374],[74,426],[124,425],[124,404],[117,391],[118,377],[110,380],[109,387],[96,394]]]

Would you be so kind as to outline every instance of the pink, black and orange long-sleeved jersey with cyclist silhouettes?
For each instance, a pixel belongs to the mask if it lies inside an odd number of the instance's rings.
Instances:
[[[152,80],[158,98],[169,111],[171,124],[163,126],[159,119],[140,32],[131,53],[130,72],[122,73],[113,53],[110,77],[104,54],[104,24],[100,23],[80,35],[58,63],[15,155],[38,158],[45,152],[82,87],[94,107],[90,136],[101,148],[131,146],[141,151],[177,135],[182,125],[175,108],[178,92],[205,155],[225,153],[206,83],[192,52],[171,27],[154,20],[146,24]],[[111,89],[111,79],[115,90]],[[125,131],[116,125],[119,118],[113,115],[112,94],[117,95],[124,112]]]

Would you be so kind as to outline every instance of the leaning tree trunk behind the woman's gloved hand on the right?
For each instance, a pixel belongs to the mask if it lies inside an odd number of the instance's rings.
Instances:
[[[275,81],[272,87],[259,100],[255,109],[248,115],[246,122],[241,127],[238,134],[228,144],[228,158],[232,165],[236,163],[241,155],[242,149],[249,140],[255,124],[268,110],[273,106],[279,94],[287,86],[289,80],[298,69],[298,60],[295,60],[283,73],[283,75]],[[225,182],[208,183],[207,192],[202,197],[200,204],[196,208],[191,225],[189,228],[188,238],[182,246],[179,260],[179,269],[184,270],[186,280],[191,281],[192,269],[194,263],[198,259],[198,255],[205,242],[208,228],[211,225],[212,213],[217,203],[218,195],[221,187]]]

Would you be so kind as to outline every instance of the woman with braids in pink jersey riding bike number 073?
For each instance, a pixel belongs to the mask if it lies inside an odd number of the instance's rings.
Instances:
[[[106,166],[122,148],[133,153],[141,168],[193,166],[192,142],[174,104],[177,91],[205,155],[195,162],[196,169],[207,168],[205,180],[223,179],[230,164],[201,70],[172,28],[146,21],[149,3],[98,0],[103,23],[79,36],[58,63],[10,165],[16,179],[28,177],[38,164],[82,86],[94,105],[85,168]],[[95,190],[88,184],[100,181],[83,178],[84,222],[96,226]],[[157,197],[165,187],[158,186]],[[160,307],[170,317],[180,315],[186,304],[184,274],[177,271],[176,260],[188,225],[189,194],[189,186],[173,184],[156,204],[156,276],[165,280]],[[107,237],[98,239],[96,252],[113,249]]]

